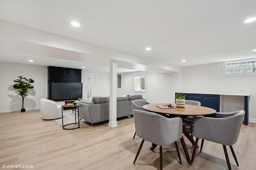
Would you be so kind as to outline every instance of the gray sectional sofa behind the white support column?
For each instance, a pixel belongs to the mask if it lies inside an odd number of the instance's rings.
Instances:
[[[132,100],[142,99],[142,95],[117,97],[116,117],[133,115]],[[93,97],[92,102],[79,100],[79,117],[90,122],[98,123],[109,120],[109,97]]]

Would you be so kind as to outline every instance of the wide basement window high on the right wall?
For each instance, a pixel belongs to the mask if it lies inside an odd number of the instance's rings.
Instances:
[[[256,59],[223,62],[222,76],[256,75]]]

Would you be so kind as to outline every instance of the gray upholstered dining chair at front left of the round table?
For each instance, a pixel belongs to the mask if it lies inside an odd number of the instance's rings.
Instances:
[[[142,142],[133,163],[135,164],[144,140],[146,140],[152,144],[160,146],[160,170],[162,170],[162,146],[168,146],[171,143],[175,143],[180,164],[182,164],[177,145],[177,141],[180,139],[182,147],[186,147],[183,143],[182,119],[180,117],[166,118],[157,113],[142,110],[133,110],[133,114],[136,133],[138,137],[142,138]]]

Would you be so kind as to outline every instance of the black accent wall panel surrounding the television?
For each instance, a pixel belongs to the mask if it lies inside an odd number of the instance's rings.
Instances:
[[[48,99],[51,100],[51,82],[81,83],[82,69],[48,66]]]

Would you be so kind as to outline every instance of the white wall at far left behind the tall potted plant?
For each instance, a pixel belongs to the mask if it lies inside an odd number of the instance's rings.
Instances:
[[[0,112],[20,111],[22,99],[13,88],[17,76],[32,78],[34,89],[29,90],[29,96],[24,99],[26,110],[39,109],[40,99],[47,99],[47,67],[14,63],[0,63],[1,102]]]

